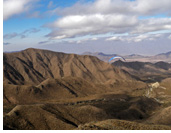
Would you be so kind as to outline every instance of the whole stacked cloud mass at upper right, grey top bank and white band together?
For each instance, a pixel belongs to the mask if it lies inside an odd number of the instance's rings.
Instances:
[[[45,25],[52,30],[47,35],[50,39],[171,30],[171,18],[164,17],[171,15],[171,0],[96,0],[78,2],[64,9],[56,8],[49,13],[61,16]]]

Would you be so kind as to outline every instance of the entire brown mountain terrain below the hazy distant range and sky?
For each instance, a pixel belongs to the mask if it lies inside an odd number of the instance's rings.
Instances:
[[[107,63],[33,48],[4,53],[3,127],[171,129],[170,70],[167,62]]]

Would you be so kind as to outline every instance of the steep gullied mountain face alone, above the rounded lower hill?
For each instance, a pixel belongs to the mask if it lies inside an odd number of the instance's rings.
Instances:
[[[112,79],[130,80],[131,77],[111,64],[93,56],[26,49],[4,53],[4,83],[39,84],[47,78],[80,77],[105,83]]]

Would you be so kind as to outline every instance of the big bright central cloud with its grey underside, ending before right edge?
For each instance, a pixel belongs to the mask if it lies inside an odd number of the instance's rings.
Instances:
[[[127,21],[129,19],[129,21]],[[92,34],[104,34],[108,32],[126,32],[137,24],[136,17],[128,17],[118,14],[93,14],[93,15],[74,15],[58,19],[48,25],[53,30],[48,36],[58,38],[75,37]]]

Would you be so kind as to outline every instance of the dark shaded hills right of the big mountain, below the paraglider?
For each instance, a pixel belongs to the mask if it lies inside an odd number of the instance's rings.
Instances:
[[[129,72],[145,82],[158,82],[171,77],[171,64],[167,62],[122,62],[116,61],[112,65]]]

